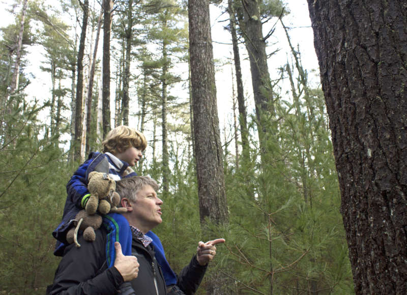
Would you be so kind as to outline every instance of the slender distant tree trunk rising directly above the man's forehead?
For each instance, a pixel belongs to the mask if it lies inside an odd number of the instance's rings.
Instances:
[[[166,27],[166,21],[164,21],[163,28]],[[162,67],[162,187],[164,198],[168,194],[168,179],[169,179],[169,156],[168,156],[168,138],[167,138],[167,73],[168,73],[168,63],[167,63],[167,44],[166,41],[162,43],[162,58],[164,61]]]

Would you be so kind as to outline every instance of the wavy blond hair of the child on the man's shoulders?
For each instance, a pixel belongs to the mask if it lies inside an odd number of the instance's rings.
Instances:
[[[144,134],[128,126],[118,126],[110,130],[103,144],[103,153],[109,152],[113,155],[135,147],[140,151],[146,150],[147,140]]]

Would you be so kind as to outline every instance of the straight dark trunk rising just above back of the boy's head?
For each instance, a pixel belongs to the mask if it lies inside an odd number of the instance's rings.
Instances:
[[[103,0],[103,81],[102,122],[103,137],[110,131],[110,26],[113,1]]]

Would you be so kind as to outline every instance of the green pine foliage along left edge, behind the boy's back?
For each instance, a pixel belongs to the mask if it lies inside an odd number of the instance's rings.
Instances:
[[[44,106],[15,99],[0,130],[0,286],[19,294],[44,293],[57,259],[51,231],[65,200],[64,156],[36,119]]]

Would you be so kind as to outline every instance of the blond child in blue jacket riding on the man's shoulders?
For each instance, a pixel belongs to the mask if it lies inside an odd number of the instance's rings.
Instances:
[[[141,132],[127,126],[119,126],[107,133],[102,145],[103,153],[91,153],[88,160],[81,164],[73,173],[67,184],[68,196],[65,202],[62,221],[52,232],[53,237],[57,240],[54,251],[56,256],[63,256],[64,250],[68,246],[66,240],[67,232],[73,226],[72,222],[76,214],[85,208],[86,202],[90,197],[87,188],[89,173],[92,171],[104,172],[114,181],[136,176],[137,173],[131,167],[135,166],[141,159],[142,152],[147,147],[147,140]],[[115,216],[121,218],[121,215]],[[160,239],[153,232],[148,232],[147,235],[153,239],[152,244],[155,248],[162,249],[161,251],[156,251],[156,258],[163,271],[166,285],[176,284],[177,277],[169,267]],[[128,255],[131,255],[131,253]]]

